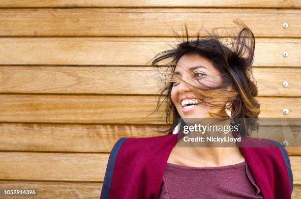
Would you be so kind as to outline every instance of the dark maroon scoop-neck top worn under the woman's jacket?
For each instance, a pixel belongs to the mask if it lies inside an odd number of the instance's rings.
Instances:
[[[246,162],[222,167],[167,163],[159,199],[263,199]]]

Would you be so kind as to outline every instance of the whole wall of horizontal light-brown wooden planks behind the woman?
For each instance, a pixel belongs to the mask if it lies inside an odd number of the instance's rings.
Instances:
[[[149,61],[184,23],[193,35],[240,18],[256,36],[260,117],[300,117],[300,8],[301,0],[1,0],[0,188],[99,198],[113,144],[166,127],[163,108],[148,116],[162,85]],[[297,199],[301,148],[287,149]]]

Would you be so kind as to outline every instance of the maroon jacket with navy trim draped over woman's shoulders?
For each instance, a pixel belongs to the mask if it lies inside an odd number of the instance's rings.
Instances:
[[[121,138],[110,153],[100,199],[157,199],[177,142],[173,134]],[[293,175],[286,149],[275,141],[243,136],[238,145],[264,199],[291,199]]]

